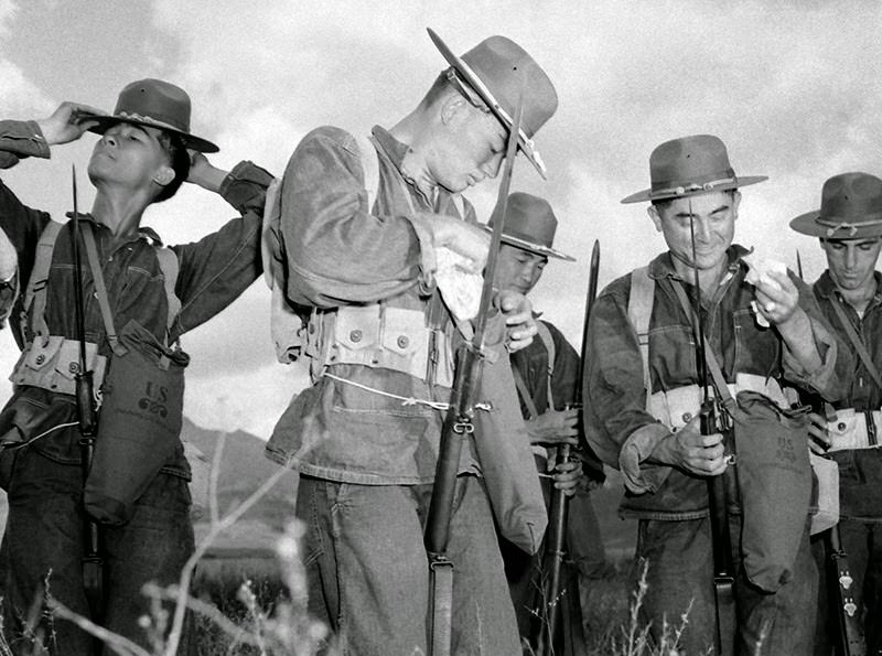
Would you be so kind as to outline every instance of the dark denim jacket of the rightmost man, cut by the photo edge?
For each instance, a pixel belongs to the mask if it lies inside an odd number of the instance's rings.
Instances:
[[[845,394],[833,404],[837,409],[854,408],[858,411],[882,409],[882,389],[858,356],[831,302],[836,294],[846,316],[854,326],[854,332],[860,335],[870,353],[875,368],[882,372],[882,273],[876,271],[874,277],[875,294],[867,305],[862,318],[858,316],[854,308],[839,294],[829,271],[825,271],[813,286],[821,312],[842,344],[851,352],[854,361],[854,369],[842,385]],[[813,401],[816,410],[821,410],[821,404],[817,398],[807,400]],[[882,521],[882,449],[833,451],[830,456],[839,464],[839,512],[842,517],[862,521]]]

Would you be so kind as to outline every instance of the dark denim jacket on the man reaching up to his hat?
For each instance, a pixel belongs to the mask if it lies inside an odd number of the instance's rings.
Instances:
[[[0,121],[0,168],[8,169],[26,157],[50,157],[49,146],[39,126],[33,121]],[[260,228],[266,189],[271,180],[269,173],[255,164],[239,163],[224,180],[220,194],[241,216],[229,221],[219,230],[198,241],[171,247],[178,256],[180,266],[174,291],[181,301],[181,312],[171,327],[170,343],[220,312],[260,276],[262,271]],[[132,235],[116,237],[104,224],[88,215],[83,216],[92,222],[95,233],[114,325],[120,330],[129,321],[135,320],[150,331],[159,342],[164,343],[168,297],[164,277],[154,252],[154,249],[161,246],[159,237],[150,228],[140,228]],[[28,280],[31,275],[37,240],[50,221],[46,212],[25,206],[0,182],[0,228],[6,230],[15,246],[22,281]],[[98,344],[99,354],[109,356],[111,351],[105,338],[106,332],[98,301],[94,294],[92,271],[82,244],[80,248],[86,340]],[[50,334],[77,340],[73,261],[68,223],[62,227],[52,255],[45,321]],[[21,299],[17,305],[15,315],[21,310]],[[14,320],[11,323],[21,345],[20,329]],[[0,432],[10,429],[9,422],[13,419],[15,410],[42,415],[45,418],[42,420],[42,427],[45,429],[61,423],[76,423],[73,396],[37,387],[17,386],[3,413],[0,415]],[[40,424],[34,427],[34,435],[37,434],[39,428]],[[79,431],[73,426],[41,438],[29,448],[63,464],[78,464],[80,462],[78,438]],[[162,471],[190,477],[190,467],[180,443],[173,461],[170,461]]]

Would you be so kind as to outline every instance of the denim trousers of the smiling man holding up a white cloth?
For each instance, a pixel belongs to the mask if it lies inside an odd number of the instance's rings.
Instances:
[[[671,628],[685,625],[680,649],[689,656],[716,653],[710,520],[642,519],[637,530],[636,576],[644,566],[648,567],[641,621],[652,622],[650,633],[656,642],[666,624]],[[735,654],[809,656],[818,572],[809,547],[808,524],[793,564],[793,577],[775,593],[764,592],[746,579],[738,539],[739,515],[730,516],[730,534],[735,570]]]

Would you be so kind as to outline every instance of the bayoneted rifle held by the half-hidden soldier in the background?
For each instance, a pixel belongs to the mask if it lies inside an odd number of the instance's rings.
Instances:
[[[578,380],[582,380],[584,374],[585,358],[588,357],[588,320],[591,316],[591,308],[598,297],[598,273],[600,271],[600,241],[594,240],[594,248],[591,250],[591,267],[588,277],[588,294],[585,297],[585,315],[582,323],[582,358],[579,365]],[[555,466],[564,462],[570,462],[571,445],[563,444],[558,447]],[[545,613],[541,613],[541,632],[539,643],[536,648],[537,656],[555,653],[555,636],[558,631],[558,610],[560,609],[560,568],[563,563],[564,536],[567,533],[567,521],[569,520],[570,497],[561,490],[551,493],[551,509],[548,520],[549,533],[546,538],[545,555],[542,557],[542,571],[546,572],[542,585],[542,605]]]

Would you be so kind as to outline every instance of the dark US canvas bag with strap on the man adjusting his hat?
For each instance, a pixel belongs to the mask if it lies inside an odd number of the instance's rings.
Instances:
[[[114,353],[105,377],[92,467],[83,492],[86,512],[101,524],[122,526],[135,504],[179,448],[184,368],[190,356],[161,344],[129,321],[119,334],[98,265],[92,226],[83,226],[96,295]]]

